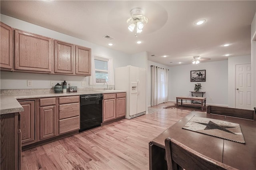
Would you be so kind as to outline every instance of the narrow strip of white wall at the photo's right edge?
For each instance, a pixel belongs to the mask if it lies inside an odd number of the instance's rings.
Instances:
[[[251,25],[252,109],[256,107],[256,13]]]

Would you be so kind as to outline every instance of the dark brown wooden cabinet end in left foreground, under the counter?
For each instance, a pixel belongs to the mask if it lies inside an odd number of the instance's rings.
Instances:
[[[1,115],[1,170],[20,170],[21,136],[19,113]]]

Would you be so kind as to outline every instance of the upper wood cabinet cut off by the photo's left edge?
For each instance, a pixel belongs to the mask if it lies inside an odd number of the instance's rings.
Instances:
[[[1,69],[12,70],[13,69],[13,54],[14,54],[14,43],[13,43],[13,29],[2,23],[1,26]]]

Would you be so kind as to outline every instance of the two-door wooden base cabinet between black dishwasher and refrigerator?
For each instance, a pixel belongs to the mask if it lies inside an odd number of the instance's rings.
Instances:
[[[125,117],[126,93],[103,94],[103,123]]]

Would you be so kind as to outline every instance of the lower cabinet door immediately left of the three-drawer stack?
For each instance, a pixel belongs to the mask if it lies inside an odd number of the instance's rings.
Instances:
[[[56,136],[56,106],[40,107],[40,140]]]

